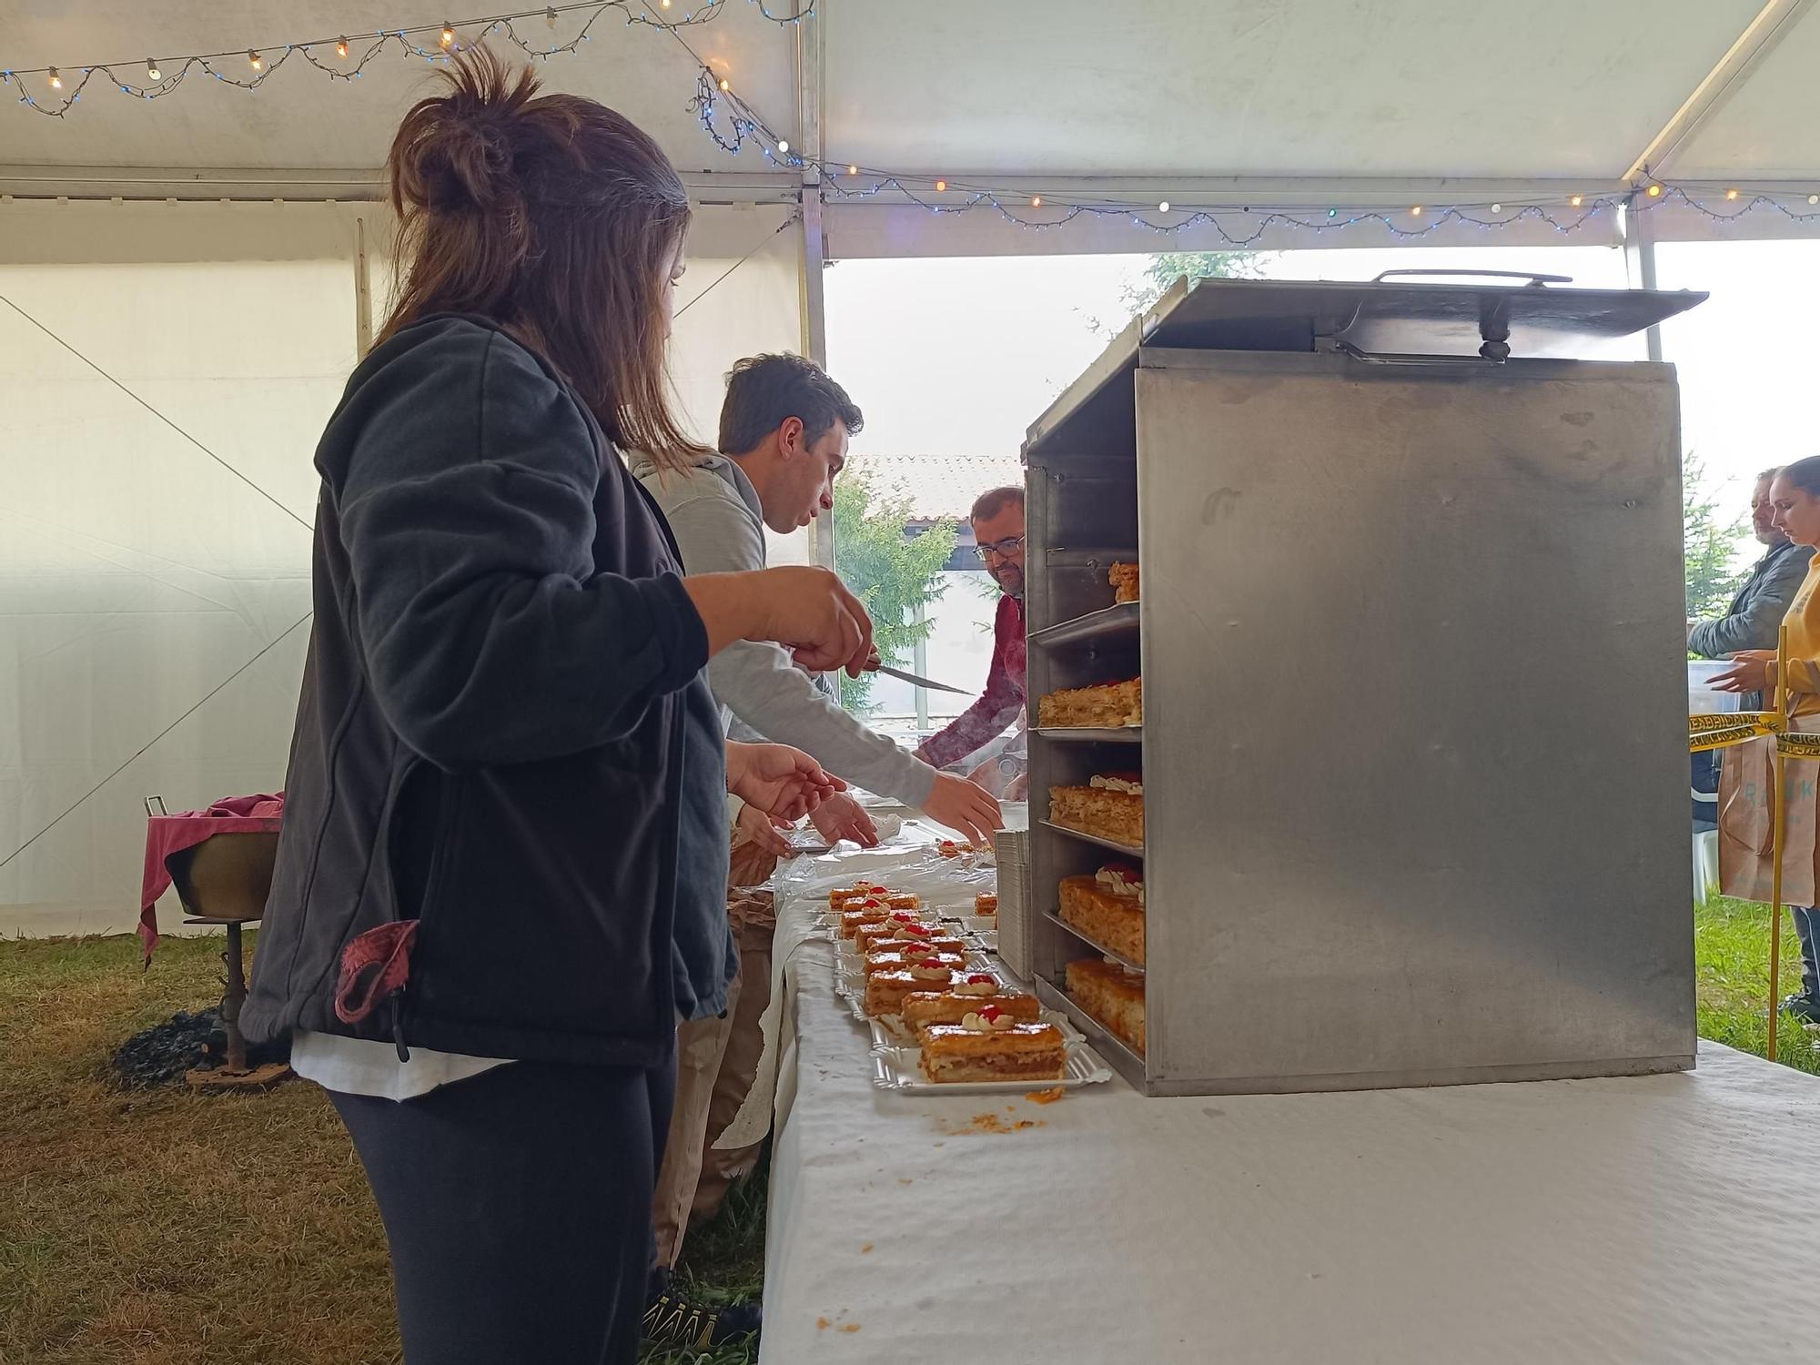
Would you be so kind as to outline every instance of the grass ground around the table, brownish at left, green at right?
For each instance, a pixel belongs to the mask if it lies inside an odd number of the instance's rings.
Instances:
[[[1700,1034],[1764,1054],[1769,912],[1694,912]],[[0,943],[0,1361],[7,1365],[380,1365],[399,1360],[386,1241],[322,1092],[124,1094],[122,1039],[218,996],[218,939]],[[1798,983],[1784,926],[1784,983]],[[1787,985],[1785,985],[1787,988]],[[1780,1059],[1820,1074],[1784,1021]],[[682,1279],[755,1298],[764,1185],[690,1236]],[[752,1347],[648,1365],[750,1365]]]

